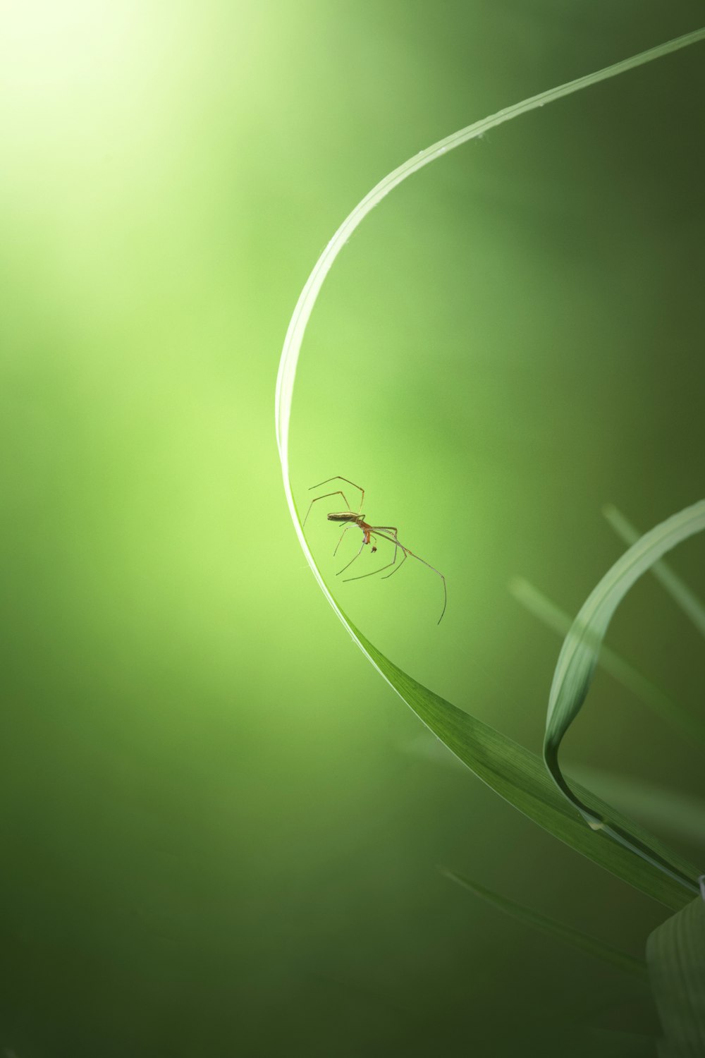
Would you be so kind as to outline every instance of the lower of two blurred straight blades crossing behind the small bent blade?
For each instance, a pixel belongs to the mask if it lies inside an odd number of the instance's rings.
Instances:
[[[538,617],[543,624],[553,628],[559,636],[567,636],[571,631],[573,619],[556,606],[546,596],[542,595],[528,581],[521,577],[515,578],[509,584],[509,590],[514,598],[525,608]],[[596,644],[599,646],[599,643]],[[602,646],[597,655],[597,664],[609,672],[623,687],[631,691],[645,706],[648,706],[657,716],[678,728],[681,734],[688,738],[697,740],[705,745],[705,723],[698,716],[692,716],[682,706],[668,697],[661,688],[652,683],[651,680],[641,673],[629,661],[625,661],[611,651],[609,646]]]

